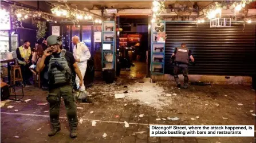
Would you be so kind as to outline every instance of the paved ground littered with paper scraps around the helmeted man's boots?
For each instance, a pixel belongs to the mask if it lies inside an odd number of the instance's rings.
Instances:
[[[103,83],[96,83],[94,86],[101,86]],[[165,85],[166,83],[160,83]],[[89,91],[92,89],[88,89]],[[41,89],[26,87],[25,95],[35,95],[26,97],[31,99],[28,103],[15,103],[11,101],[1,108],[1,142],[254,142],[254,137],[149,137],[149,124],[168,125],[254,125],[255,119],[250,114],[250,110],[255,108],[255,91],[249,85],[214,85],[212,87],[191,87],[187,91],[177,90],[182,95],[182,99],[174,99],[176,103],[187,105],[180,107],[164,108],[156,111],[152,107],[141,104],[132,104],[127,100],[115,100],[113,96],[96,95],[95,104],[78,104],[78,118],[84,121],[78,125],[78,137],[69,137],[69,125],[65,116],[64,103],[61,104],[61,132],[56,136],[48,137],[49,127],[49,107],[48,105],[38,107],[36,104],[45,102],[47,92]],[[90,91],[92,92],[92,91]],[[97,94],[97,91],[96,91]],[[191,96],[192,95],[192,96]],[[202,96],[203,95],[203,96]],[[225,98],[220,95],[229,95]],[[200,99],[194,99],[200,96]],[[220,107],[210,105],[218,101]],[[196,105],[204,102],[209,103],[209,108],[199,108]],[[128,105],[124,107],[124,103]],[[237,107],[237,103],[243,103],[243,107]],[[13,105],[7,109],[8,105]],[[187,108],[187,110],[183,109]],[[18,112],[14,110],[18,109]],[[90,113],[94,111],[94,113]],[[206,111],[206,112],[203,112]],[[144,117],[138,117],[141,113]],[[118,115],[118,116],[117,116]],[[200,115],[199,120],[191,121],[190,117]],[[156,121],[156,118],[177,116],[178,121]],[[229,120],[223,120],[228,117]],[[92,126],[95,120],[96,126]],[[129,128],[124,128],[123,122],[129,122]],[[122,124],[120,124],[120,122]],[[139,134],[136,132],[145,131]],[[103,138],[106,133],[107,137]],[[17,136],[17,137],[15,137]]]

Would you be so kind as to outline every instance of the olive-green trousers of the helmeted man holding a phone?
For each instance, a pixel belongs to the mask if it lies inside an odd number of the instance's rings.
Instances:
[[[49,89],[47,101],[50,104],[50,122],[53,128],[60,128],[60,105],[61,97],[64,99],[66,116],[68,116],[70,129],[76,128],[78,124],[77,108],[71,85]]]

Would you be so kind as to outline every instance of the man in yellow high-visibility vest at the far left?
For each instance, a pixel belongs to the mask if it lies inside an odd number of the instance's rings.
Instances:
[[[31,64],[32,58],[30,43],[27,40],[25,40],[24,44],[16,49],[16,54],[18,63],[21,66],[23,83],[25,85],[31,85],[29,81],[29,77],[31,75],[29,66]]]

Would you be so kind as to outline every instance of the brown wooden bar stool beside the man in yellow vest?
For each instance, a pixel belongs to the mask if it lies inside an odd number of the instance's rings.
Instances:
[[[18,71],[16,75],[16,71]],[[14,85],[16,81],[23,81],[22,73],[21,73],[21,66],[13,65],[11,66],[11,84]]]

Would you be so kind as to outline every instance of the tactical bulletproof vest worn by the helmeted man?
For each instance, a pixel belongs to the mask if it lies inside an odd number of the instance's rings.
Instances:
[[[62,50],[60,58],[54,58],[51,55],[48,68],[49,84],[64,84],[69,83],[71,79],[71,70],[65,58],[66,50]]]

